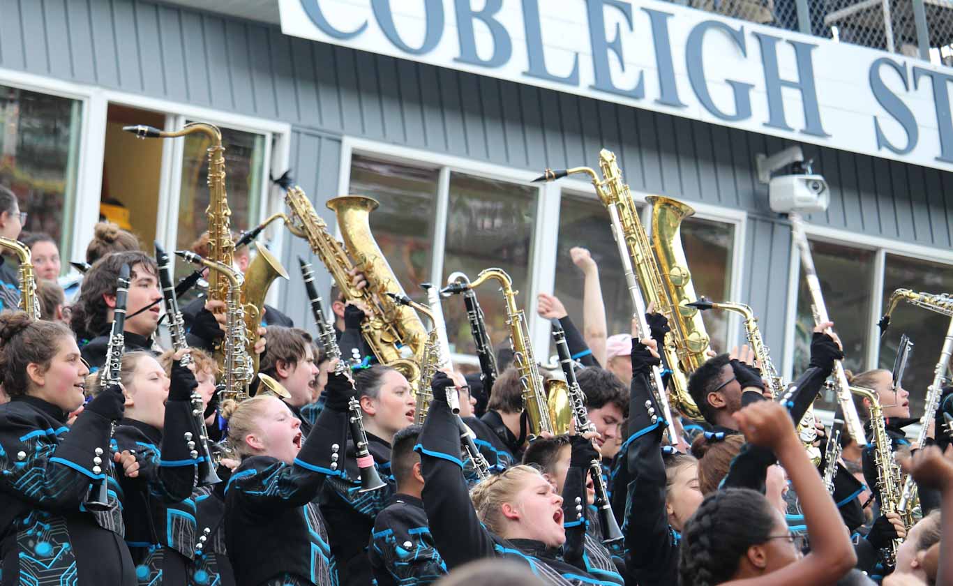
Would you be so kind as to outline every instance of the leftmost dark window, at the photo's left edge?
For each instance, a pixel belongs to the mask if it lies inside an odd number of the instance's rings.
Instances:
[[[81,122],[79,100],[0,86],[0,185],[28,213],[23,229],[49,233],[64,261],[72,258]]]

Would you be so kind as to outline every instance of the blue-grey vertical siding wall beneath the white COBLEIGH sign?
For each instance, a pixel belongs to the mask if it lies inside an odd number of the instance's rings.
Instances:
[[[324,213],[340,136],[528,170],[596,166],[617,152],[634,190],[749,212],[746,287],[779,351],[789,230],[770,212],[755,155],[790,143],[753,132],[286,37],[264,25],[139,0],[0,0],[0,68],[290,122],[292,168]],[[953,246],[949,173],[804,146],[832,187],[815,224]],[[284,258],[306,249],[295,242]],[[308,323],[303,292],[285,307]]]

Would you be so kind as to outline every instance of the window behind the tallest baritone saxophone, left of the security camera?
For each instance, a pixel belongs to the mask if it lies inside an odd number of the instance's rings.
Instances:
[[[638,205],[639,211],[644,205]],[[640,219],[644,218],[640,213]],[[692,273],[695,293],[720,301],[731,298],[731,258],[734,226],[695,216],[681,223],[681,245]],[[556,296],[582,329],[582,274],[570,261],[569,250],[589,249],[598,264],[599,283],[605,302],[608,334],[631,331],[632,302],[622,273],[618,246],[612,236],[609,215],[597,200],[563,192],[559,205]],[[728,341],[728,314],[702,313],[713,346],[725,349]],[[551,354],[555,353],[551,347]]]

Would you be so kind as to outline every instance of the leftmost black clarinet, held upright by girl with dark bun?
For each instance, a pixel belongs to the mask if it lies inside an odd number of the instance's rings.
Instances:
[[[122,369],[122,354],[126,351],[126,335],[123,328],[126,325],[126,296],[129,294],[129,265],[124,264],[119,269],[119,278],[116,280],[116,306],[112,310],[112,329],[110,330],[110,342],[106,350],[106,363],[103,364],[102,372],[99,374],[99,393],[102,393],[112,384],[119,384],[120,371]],[[110,439],[115,431],[116,423],[110,424]],[[99,453],[92,460],[93,474],[103,474],[102,478],[96,478],[90,484],[90,492],[86,495],[86,501],[83,506],[90,511],[109,511],[109,477],[112,470],[111,458],[103,460]]]

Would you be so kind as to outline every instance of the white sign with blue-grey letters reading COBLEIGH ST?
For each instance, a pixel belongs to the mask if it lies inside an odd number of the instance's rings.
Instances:
[[[279,0],[285,34],[953,170],[953,70],[655,0]]]

